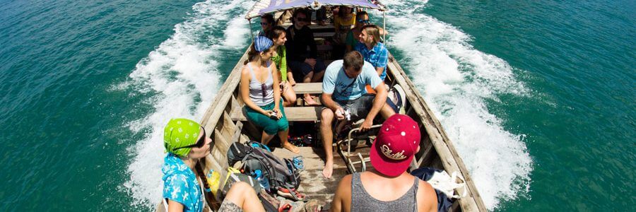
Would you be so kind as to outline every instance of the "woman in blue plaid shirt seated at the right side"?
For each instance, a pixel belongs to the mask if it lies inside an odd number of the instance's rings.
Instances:
[[[373,65],[377,75],[384,81],[387,77],[389,50],[380,42],[379,28],[376,25],[365,25],[360,31],[359,38],[360,42],[355,46],[355,51],[363,54],[365,61]]]

